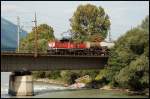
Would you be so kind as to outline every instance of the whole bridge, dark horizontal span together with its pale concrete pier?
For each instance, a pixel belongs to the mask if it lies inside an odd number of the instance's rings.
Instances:
[[[108,56],[49,55],[47,53],[1,52],[1,72],[12,72],[9,78],[10,95],[34,95],[30,72],[47,70],[101,69],[107,64]]]

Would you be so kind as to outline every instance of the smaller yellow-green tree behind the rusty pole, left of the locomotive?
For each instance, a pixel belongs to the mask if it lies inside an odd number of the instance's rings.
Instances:
[[[35,29],[31,31],[26,38],[21,39],[20,51],[22,52],[33,52],[34,51],[34,39],[35,39]],[[46,52],[47,43],[49,40],[54,39],[53,28],[47,24],[41,24],[37,27],[38,32],[38,51]]]

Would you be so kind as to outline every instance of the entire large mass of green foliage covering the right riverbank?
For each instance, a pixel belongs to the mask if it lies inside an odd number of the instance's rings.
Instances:
[[[132,90],[149,88],[149,31],[147,31],[149,23],[147,20],[149,19],[146,17],[140,27],[127,31],[117,40],[111,49],[108,66],[100,70],[96,80]]]

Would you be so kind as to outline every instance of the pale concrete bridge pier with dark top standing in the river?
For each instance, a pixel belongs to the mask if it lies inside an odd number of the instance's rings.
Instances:
[[[33,80],[31,72],[13,72],[9,76],[9,91],[12,96],[32,96]]]

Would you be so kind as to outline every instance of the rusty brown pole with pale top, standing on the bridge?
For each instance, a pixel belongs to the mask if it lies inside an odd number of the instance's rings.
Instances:
[[[34,22],[35,24],[35,28],[34,28],[34,32],[35,32],[35,46],[34,46],[34,57],[37,57],[37,54],[38,54],[38,42],[37,42],[37,39],[38,39],[38,33],[37,33],[37,20],[36,20],[36,12],[35,12],[35,16],[34,16]]]

